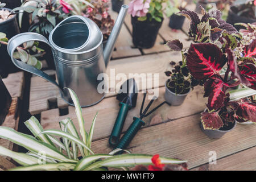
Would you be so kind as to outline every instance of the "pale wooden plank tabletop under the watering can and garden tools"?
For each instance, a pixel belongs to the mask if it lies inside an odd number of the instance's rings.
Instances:
[[[189,5],[189,9],[195,9],[195,5]],[[114,18],[117,14],[111,13]],[[106,73],[111,81],[115,83],[115,77],[110,71],[124,73],[152,73],[157,77],[148,80],[158,81],[158,84],[146,85],[142,88],[142,79],[136,78],[140,90],[154,89],[154,93],[159,95],[154,101],[154,107],[164,101],[164,83],[167,77],[164,71],[170,70],[170,61],[180,61],[181,55],[177,52],[170,52],[164,46],[167,40],[180,39],[184,48],[191,44],[188,41],[189,21],[185,20],[183,30],[171,30],[168,27],[168,18],[164,18],[162,27],[159,30],[156,44],[151,49],[134,48],[131,40],[132,26],[130,15],[126,16],[125,26],[122,27],[121,36],[115,45]],[[55,75],[54,71],[47,71],[50,75]],[[128,78],[128,77],[127,77]],[[114,88],[110,88],[114,90]],[[116,90],[118,91],[118,90]],[[188,160],[189,169],[192,170],[256,170],[256,160],[254,158],[256,147],[256,125],[237,125],[220,139],[210,139],[200,129],[200,113],[205,109],[206,98],[203,98],[203,87],[197,86],[185,98],[181,106],[163,105],[160,109],[144,118],[146,125],[138,131],[128,149],[135,153],[160,154],[170,158]],[[115,118],[119,111],[119,102],[115,98],[115,93],[106,94],[104,100],[92,107],[82,109],[82,116],[85,119],[86,130],[89,130],[94,115],[98,112],[93,135],[92,150],[96,153],[108,153],[112,151],[108,144],[109,135],[112,131]],[[86,97],[86,95],[84,96]],[[131,109],[127,115],[123,132],[127,130],[133,117],[139,115],[143,94],[138,94],[137,106]],[[56,109],[49,108],[49,102],[56,100]],[[146,100],[149,102],[149,100]],[[66,108],[68,113],[60,114],[62,108]],[[30,89],[30,112],[31,114],[41,114],[40,122],[44,129],[59,129],[59,121],[64,118],[71,118],[78,127],[75,108],[68,106],[60,98],[59,90],[47,81],[39,77],[31,78]],[[208,164],[210,151],[216,152],[216,165]]]

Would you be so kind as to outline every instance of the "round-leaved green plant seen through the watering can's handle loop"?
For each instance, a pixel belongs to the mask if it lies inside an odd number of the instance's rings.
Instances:
[[[0,32],[0,46],[1,44],[7,45],[8,41],[6,34]],[[14,59],[18,59],[37,69],[41,69],[43,64],[38,60],[38,58],[43,56],[45,52],[38,46],[39,42],[35,41],[24,43],[22,46],[16,48],[16,51],[14,52]]]

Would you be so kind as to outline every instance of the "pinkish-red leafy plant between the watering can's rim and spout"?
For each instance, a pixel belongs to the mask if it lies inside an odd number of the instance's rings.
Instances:
[[[114,27],[114,20],[111,18],[109,11],[109,0],[92,0],[91,5],[87,5],[83,10],[82,15],[92,19],[100,28],[103,34],[103,47],[105,48],[108,42],[111,31]]]

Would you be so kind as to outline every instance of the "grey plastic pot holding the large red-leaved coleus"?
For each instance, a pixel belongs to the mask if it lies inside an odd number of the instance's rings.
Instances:
[[[207,109],[205,109],[204,111],[206,111]],[[219,139],[221,137],[223,137],[223,135],[225,135],[226,133],[228,133],[229,131],[232,131],[235,127],[237,126],[237,122],[229,122],[228,126],[224,126],[218,130],[205,130],[203,123],[200,122],[200,127],[201,130],[204,132],[205,135],[207,135],[209,138],[213,138],[213,139]]]

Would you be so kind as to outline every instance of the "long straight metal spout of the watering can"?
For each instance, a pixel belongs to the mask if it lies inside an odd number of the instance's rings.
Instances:
[[[106,44],[106,47],[104,49],[104,60],[106,66],[108,65],[109,60],[111,58],[115,42],[122,28],[123,20],[125,19],[128,7],[128,5],[122,5],[121,10],[119,11],[119,14],[117,16],[117,20],[115,21],[112,33],[109,36],[108,43]]]

